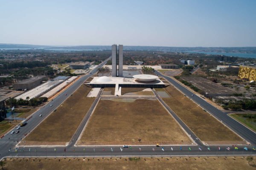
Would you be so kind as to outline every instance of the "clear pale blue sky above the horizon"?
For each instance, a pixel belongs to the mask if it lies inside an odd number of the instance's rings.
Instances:
[[[256,46],[256,0],[0,0],[0,43]]]

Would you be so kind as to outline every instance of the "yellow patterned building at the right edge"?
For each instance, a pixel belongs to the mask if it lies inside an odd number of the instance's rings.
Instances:
[[[249,79],[249,81],[256,81],[256,67],[240,65],[238,77],[240,79]]]

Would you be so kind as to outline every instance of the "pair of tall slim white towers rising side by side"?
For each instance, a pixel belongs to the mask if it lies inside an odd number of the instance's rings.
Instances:
[[[123,45],[112,45],[112,77],[123,76]],[[118,67],[117,67],[118,65]]]

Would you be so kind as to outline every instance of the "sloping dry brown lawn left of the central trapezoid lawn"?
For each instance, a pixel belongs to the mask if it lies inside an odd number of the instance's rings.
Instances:
[[[90,90],[86,85],[81,85],[57,111],[51,113],[24,139],[23,144],[52,145],[69,142],[95,99],[86,97]]]

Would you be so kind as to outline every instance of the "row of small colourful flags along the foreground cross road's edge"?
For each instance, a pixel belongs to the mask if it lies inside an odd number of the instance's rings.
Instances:
[[[129,147],[129,148],[132,149],[132,147]],[[141,148],[139,148],[139,149],[140,149],[140,151],[141,151]],[[183,148],[180,147],[180,150],[182,150],[182,149],[183,149]],[[238,150],[239,148],[235,146],[234,149],[235,149],[235,150]],[[246,150],[246,151],[248,150],[247,147],[244,147],[243,149]],[[10,148],[10,150],[11,150],[11,148]],[[10,150],[9,150],[9,152],[10,152]],[[46,150],[46,148],[45,148],[45,150]],[[103,148],[102,150],[105,151],[105,148]],[[122,150],[123,150],[122,147],[120,147],[120,150],[121,150],[121,152],[122,152]],[[152,150],[155,151],[154,147],[152,148]],[[161,150],[164,151],[164,147],[161,147]],[[171,150],[173,151],[174,149],[171,147]],[[188,147],[188,150],[192,150],[191,147]],[[201,148],[201,147],[198,147],[198,150],[202,151],[202,148]],[[207,147],[207,150],[210,151],[211,148],[210,148],[210,147]],[[218,147],[218,150],[221,150],[221,147]],[[230,147],[226,147],[226,150],[231,150],[231,148],[230,148]],[[253,150],[256,150],[256,147],[253,146]],[[20,151],[23,152],[23,151],[24,151],[24,148],[22,148]],[[54,148],[54,151],[56,152],[56,148]],[[76,151],[76,150],[74,149],[73,152],[75,152],[75,151]],[[93,148],[93,151],[95,152],[95,148]],[[18,148],[15,149],[15,152],[18,152]],[[29,152],[31,152],[30,147],[29,147]],[[36,148],[35,148],[35,152],[37,152]],[[64,148],[64,152],[66,152],[66,147]],[[84,152],[85,152],[85,148],[84,148]],[[111,147],[111,152],[113,152],[113,148],[112,148],[112,147]]]

